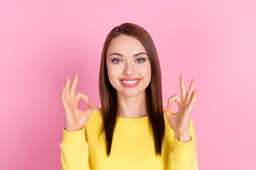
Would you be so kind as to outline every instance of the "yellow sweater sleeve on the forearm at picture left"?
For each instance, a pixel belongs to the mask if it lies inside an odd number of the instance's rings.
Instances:
[[[63,142],[60,143],[62,170],[90,170],[89,145],[85,138],[85,127],[75,132],[63,128]]]

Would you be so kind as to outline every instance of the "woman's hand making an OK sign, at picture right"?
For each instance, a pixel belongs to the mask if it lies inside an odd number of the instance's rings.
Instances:
[[[191,140],[189,135],[189,121],[191,118],[191,111],[196,101],[196,94],[198,91],[193,91],[195,80],[191,81],[188,93],[184,84],[184,77],[180,77],[181,83],[181,97],[178,94],[171,96],[168,100],[168,106],[162,108],[169,125],[174,130],[176,138],[181,142],[188,142]],[[171,113],[171,104],[176,101],[178,103],[178,111]]]

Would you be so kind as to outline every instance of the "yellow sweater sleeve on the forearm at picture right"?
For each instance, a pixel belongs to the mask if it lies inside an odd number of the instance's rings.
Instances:
[[[171,151],[171,170],[198,170],[198,160],[196,152],[196,135],[192,120],[189,124],[188,142],[179,141],[174,135],[174,148]]]

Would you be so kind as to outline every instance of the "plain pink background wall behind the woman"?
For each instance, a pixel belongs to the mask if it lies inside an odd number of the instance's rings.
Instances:
[[[153,38],[163,99],[196,79],[191,118],[199,169],[256,169],[255,1],[1,1],[0,169],[61,169],[61,91],[100,108],[98,76],[107,34],[137,23]],[[80,108],[86,108],[82,102]],[[173,107],[176,110],[178,107]]]

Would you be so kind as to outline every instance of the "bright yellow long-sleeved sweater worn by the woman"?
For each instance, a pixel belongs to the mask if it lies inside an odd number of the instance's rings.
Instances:
[[[161,157],[156,157],[155,154],[154,136],[149,131],[149,116],[117,117],[110,157],[106,157],[104,132],[100,135],[102,111],[95,108],[81,130],[68,132],[63,128],[63,142],[60,143],[62,170],[198,169],[192,120],[189,125],[192,140],[189,142],[176,139],[166,115],[164,121],[166,132]]]

